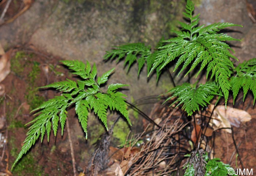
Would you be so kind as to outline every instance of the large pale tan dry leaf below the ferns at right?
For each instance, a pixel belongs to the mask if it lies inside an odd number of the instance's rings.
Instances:
[[[212,112],[214,105],[209,105],[209,111]],[[231,128],[232,126],[240,127],[241,122],[248,122],[252,119],[252,116],[241,109],[236,109],[227,106],[225,109],[224,105],[218,105],[215,107],[212,114],[212,124],[217,126],[217,128]],[[231,133],[231,129],[225,129],[226,132]]]

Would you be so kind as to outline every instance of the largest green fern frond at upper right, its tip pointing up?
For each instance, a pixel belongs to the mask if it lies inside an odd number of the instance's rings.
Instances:
[[[198,26],[199,15],[192,16],[194,10],[191,0],[187,1],[186,9],[183,14],[190,23],[180,23],[181,31],[176,31],[177,37],[165,40],[164,46],[159,47],[159,52],[156,56],[155,62],[148,74],[154,70],[161,72],[161,70],[171,61],[178,58],[174,71],[180,66],[180,72],[184,71],[188,66],[190,69],[185,74],[188,75],[196,66],[200,65],[200,69],[196,77],[203,69],[207,69],[207,75],[211,73],[211,78],[215,77],[219,88],[224,94],[225,102],[230,90],[230,69],[233,69],[231,58],[237,59],[230,53],[231,48],[225,41],[238,40],[226,34],[219,34],[221,29],[226,27],[240,26],[232,23],[214,23],[207,27]],[[233,50],[231,50],[233,51]],[[183,64],[183,65],[182,65]],[[160,74],[160,73],[159,73]]]

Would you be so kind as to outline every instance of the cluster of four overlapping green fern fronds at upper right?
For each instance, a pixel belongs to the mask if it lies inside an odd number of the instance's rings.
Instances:
[[[240,88],[244,90],[244,97],[249,89],[252,90],[255,102],[255,59],[234,68],[230,58],[237,58],[231,54],[234,51],[225,42],[238,39],[220,33],[227,27],[242,26],[232,23],[199,26],[199,15],[193,16],[193,11],[194,5],[188,0],[183,14],[189,22],[180,22],[181,30],[173,31],[177,36],[162,40],[154,51],[143,43],[131,43],[114,47],[107,51],[104,58],[118,58],[118,61],[125,58],[124,64],[129,63],[128,69],[132,63],[138,62],[138,74],[146,63],[148,76],[155,71],[157,79],[163,68],[168,67],[171,62],[176,62],[173,71],[179,70],[178,75],[182,71],[186,71],[185,76],[196,71],[197,77],[203,70],[206,71],[208,81],[205,84],[184,83],[167,92],[172,94],[167,100],[177,97],[174,103],[182,104],[182,109],[188,115],[192,115],[200,107],[206,107],[215,95],[223,96],[226,104],[230,90],[235,99]],[[237,75],[233,76],[234,73]],[[245,85],[247,81],[249,83]]]

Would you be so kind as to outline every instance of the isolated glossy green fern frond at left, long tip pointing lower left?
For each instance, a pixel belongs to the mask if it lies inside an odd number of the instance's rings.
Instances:
[[[101,77],[96,79],[97,68],[95,64],[91,68],[89,62],[86,64],[78,60],[64,60],[61,62],[65,66],[68,66],[68,68],[72,70],[72,73],[78,75],[81,80],[75,82],[67,79],[66,81],[55,82],[41,87],[54,88],[59,90],[62,94],[53,99],[49,99],[41,106],[32,110],[36,117],[29,122],[29,124],[32,125],[29,127],[29,132],[27,132],[27,137],[23,142],[24,145],[12,165],[12,169],[32,145],[35,144],[35,141],[37,141],[40,136],[42,142],[46,133],[49,142],[50,131],[52,129],[54,136],[56,136],[59,122],[61,125],[61,135],[63,135],[67,118],[67,108],[71,105],[75,105],[75,111],[86,134],[86,139],[87,117],[90,111],[93,111],[99,117],[106,130],[108,130],[108,108],[110,110],[116,110],[122,114],[129,125],[131,125],[131,121],[128,117],[127,104],[124,98],[126,95],[118,91],[118,89],[128,85],[116,83],[109,85],[105,92],[101,89],[101,87],[108,81],[108,77],[113,73],[114,69],[107,71]]]

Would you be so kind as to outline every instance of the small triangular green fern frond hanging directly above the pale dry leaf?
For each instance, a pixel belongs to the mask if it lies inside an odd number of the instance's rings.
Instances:
[[[183,104],[182,109],[191,116],[193,112],[199,110],[199,106],[206,107],[210,104],[210,101],[215,95],[220,95],[218,92],[219,88],[215,82],[200,84],[198,87],[196,87],[196,83],[194,85],[183,83],[182,85],[176,86],[167,92],[172,94],[172,96],[167,98],[166,101],[177,97],[170,106],[177,102],[177,106]]]

